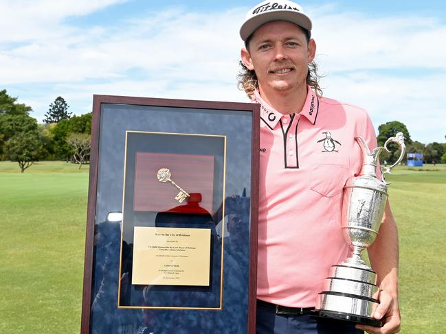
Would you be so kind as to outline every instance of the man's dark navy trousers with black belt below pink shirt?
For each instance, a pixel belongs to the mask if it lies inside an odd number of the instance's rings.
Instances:
[[[342,320],[313,318],[308,313],[276,315],[271,309],[257,307],[257,334],[364,334],[355,324]]]

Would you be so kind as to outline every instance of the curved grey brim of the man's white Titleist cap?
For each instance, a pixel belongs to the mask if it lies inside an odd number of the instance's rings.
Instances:
[[[306,31],[311,34],[312,24],[308,16],[294,10],[275,10],[274,12],[254,16],[243,23],[242,27],[240,28],[240,36],[242,40],[247,40],[247,38],[260,26],[273,21],[287,21],[294,23],[295,25],[299,25],[300,27],[306,29]]]

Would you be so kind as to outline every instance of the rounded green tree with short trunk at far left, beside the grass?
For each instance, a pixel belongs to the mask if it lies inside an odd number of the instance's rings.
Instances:
[[[36,131],[14,134],[5,144],[5,151],[12,161],[19,163],[21,173],[38,159],[38,133]]]

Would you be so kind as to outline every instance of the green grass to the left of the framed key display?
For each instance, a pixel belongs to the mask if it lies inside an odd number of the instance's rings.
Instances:
[[[88,174],[76,168],[0,163],[0,333],[79,332]]]

